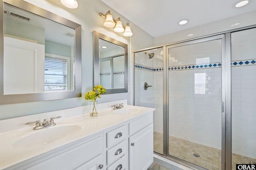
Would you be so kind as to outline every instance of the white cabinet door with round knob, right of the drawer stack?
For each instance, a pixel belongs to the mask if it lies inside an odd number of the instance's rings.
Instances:
[[[153,124],[129,137],[130,170],[146,170],[153,162]]]

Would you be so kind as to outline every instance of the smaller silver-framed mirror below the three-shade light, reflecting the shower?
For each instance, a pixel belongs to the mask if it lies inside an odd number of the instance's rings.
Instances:
[[[93,31],[94,86],[106,94],[128,92],[128,45]]]

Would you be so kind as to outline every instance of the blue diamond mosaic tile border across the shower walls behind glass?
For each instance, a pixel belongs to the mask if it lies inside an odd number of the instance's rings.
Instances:
[[[249,65],[256,65],[256,59],[251,59],[251,60],[242,60],[242,61],[232,61],[231,66],[249,66]],[[172,66],[169,67],[169,71],[175,71],[175,70],[191,70],[191,69],[202,69],[202,68],[220,68],[222,67],[221,63],[210,63],[210,64],[201,64],[201,65],[184,65],[184,66]],[[140,69],[140,70],[148,70],[152,72],[158,72],[158,71],[163,71],[162,67],[158,68],[152,68],[148,66],[143,66],[140,64],[134,64],[135,69]]]

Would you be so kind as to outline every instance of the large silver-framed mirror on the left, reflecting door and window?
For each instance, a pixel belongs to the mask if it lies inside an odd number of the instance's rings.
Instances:
[[[24,0],[0,10],[0,104],[81,97],[81,25]]]

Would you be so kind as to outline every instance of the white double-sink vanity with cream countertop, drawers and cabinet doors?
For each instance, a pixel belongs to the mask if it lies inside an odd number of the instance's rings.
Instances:
[[[82,106],[0,121],[0,169],[146,170],[153,162],[154,109],[112,105],[99,104],[96,117]],[[24,125],[57,116],[51,127]]]

